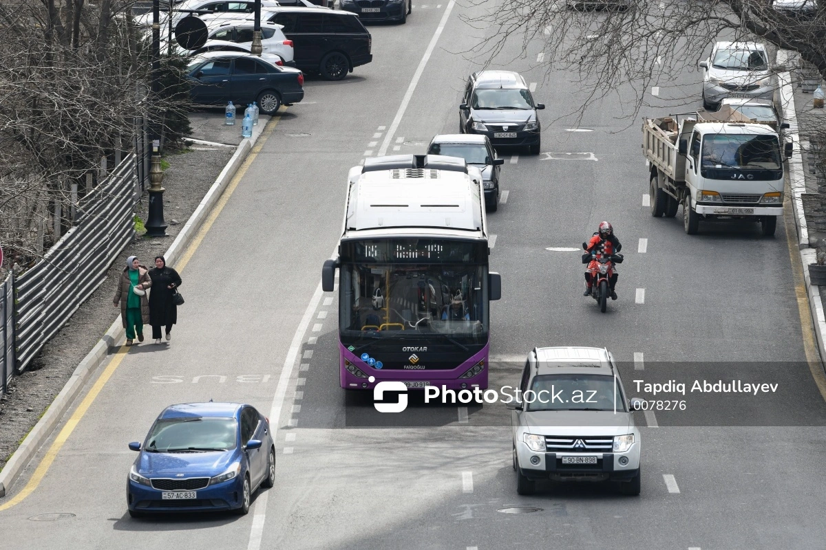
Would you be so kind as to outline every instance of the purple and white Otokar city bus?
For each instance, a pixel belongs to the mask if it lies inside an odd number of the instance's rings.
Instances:
[[[368,158],[349,172],[339,256],[339,369],[346,389],[487,388],[489,303],[482,174],[438,155]]]

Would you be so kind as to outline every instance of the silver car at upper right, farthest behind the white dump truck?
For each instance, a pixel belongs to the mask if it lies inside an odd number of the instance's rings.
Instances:
[[[771,100],[774,85],[766,47],[756,42],[717,42],[705,61],[703,106],[717,110],[726,97]]]

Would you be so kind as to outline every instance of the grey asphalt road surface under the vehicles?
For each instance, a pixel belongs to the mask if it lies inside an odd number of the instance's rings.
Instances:
[[[596,485],[517,496],[502,407],[470,407],[460,423],[457,407],[414,403],[396,425],[354,427],[376,415],[339,388],[336,302],[320,293],[320,266],[338,241],[347,171],[382,148],[449,7],[387,153],[423,153],[434,134],[458,130],[465,79],[483,62],[463,52],[484,32],[460,15],[481,8],[440,1],[417,6],[406,26],[371,26],[373,63],[343,82],[309,79],[306,101],[271,123],[182,272],[187,303],[171,345],[115,356],[112,377],[39,486],[0,511],[2,548],[822,546],[826,407],[805,364],[785,226],[774,238],[750,223],[702,225],[689,237],[681,214],[653,219],[643,206],[638,120],[617,119],[615,96],[582,120],[565,116],[584,94],[572,75],[544,78],[539,43],[524,57],[509,45],[492,63],[537,82],[534,96],[547,108],[544,154],[502,153],[507,200],[488,218],[491,269],[503,280],[503,299],[491,307],[491,387],[515,383],[533,346],[584,345],[623,362],[632,394],[634,379],[733,377],[778,383],[778,393],[691,397],[684,414],[657,412],[660,426],[643,428],[639,497]],[[648,93],[643,114],[699,107],[697,78],[672,75],[677,86]],[[582,298],[579,252],[547,250],[578,247],[603,219],[626,257],[619,300],[605,314]],[[244,517],[131,519],[127,442],[142,439],[170,403],[210,398],[250,402],[278,424],[276,487]],[[498,511],[513,506],[540,510]],[[53,513],[74,517],[30,520]]]

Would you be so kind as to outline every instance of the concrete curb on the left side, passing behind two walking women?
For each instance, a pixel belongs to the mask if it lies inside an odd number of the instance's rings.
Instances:
[[[181,233],[178,233],[178,237],[175,238],[169,250],[164,253],[164,257],[170,266],[173,266],[175,261],[179,259],[178,256],[186,250],[192,237],[197,233],[197,230],[201,228],[212,206],[221,197],[225,187],[229,185],[235,173],[238,172],[239,167],[247,155],[249,155],[249,151],[252,150],[268,122],[269,117],[262,116],[259,119],[259,125],[253,128],[252,138],[243,139],[238,147],[235,148],[235,153],[230,158],[230,161],[226,163],[221,174],[216,178],[215,183],[213,183],[207,191],[207,195],[204,195],[201,204],[198,204],[195,211],[192,212],[192,215],[187,220],[187,223],[181,228]],[[12,454],[12,458],[9,458],[6,466],[0,471],[0,497],[6,496],[7,487],[12,487],[12,484],[17,481],[17,478],[20,477],[20,474],[31,461],[31,458],[35,456],[40,447],[49,439],[52,431],[55,430],[55,426],[59,424],[59,421],[63,418],[66,411],[72,406],[75,397],[78,397],[78,394],[86,385],[89,378],[92,378],[97,367],[107,360],[111,352],[116,350],[118,342],[120,342],[124,336],[123,323],[120,317],[118,317],[115,322],[112,323],[112,327],[109,327],[109,330],[106,331],[92,350],[89,351],[86,357],[78,364],[78,368],[74,369],[74,373],[72,373],[72,376],[69,378],[69,381],[66,382],[63,389],[60,390],[60,393],[57,394],[55,401],[46,409],[43,416],[40,417],[40,421],[37,421],[35,427],[26,435],[26,439],[17,447],[17,450]]]

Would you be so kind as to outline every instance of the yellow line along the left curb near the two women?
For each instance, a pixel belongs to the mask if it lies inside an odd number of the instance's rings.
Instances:
[[[246,158],[246,160],[244,160],[244,163],[241,164],[241,167],[239,168],[238,172],[235,173],[235,177],[233,177],[232,181],[230,181],[230,185],[227,186],[224,190],[223,195],[221,195],[221,199],[218,200],[218,202],[215,205],[215,208],[212,209],[212,212],[207,218],[207,221],[204,223],[201,230],[198,231],[197,236],[192,240],[189,247],[187,248],[186,253],[184,253],[184,255],[181,257],[181,260],[178,261],[178,271],[183,270],[183,268],[187,265],[189,259],[192,258],[192,254],[195,253],[198,245],[201,244],[204,236],[209,231],[209,228],[211,228],[212,223],[215,222],[215,220],[218,218],[218,214],[221,214],[221,210],[224,208],[224,205],[227,203],[228,200],[230,200],[232,192],[235,191],[235,188],[238,186],[238,183],[241,181],[241,178],[244,177],[244,173],[247,172],[247,168],[249,168],[249,165],[252,164],[255,157],[258,156],[259,151],[261,151],[261,148],[263,147],[263,143],[267,141],[269,135],[273,133],[273,129],[275,129],[275,126],[278,125],[278,120],[281,120],[280,115],[273,116],[273,118],[269,120],[267,128],[265,128],[261,133],[261,137],[259,138],[258,143],[255,145],[252,151],[249,152],[249,156]],[[95,398],[97,397],[97,394],[101,392],[103,386],[105,386],[106,383],[109,381],[109,378],[112,378],[112,374],[115,374],[115,370],[121,364],[121,361],[126,356],[126,353],[128,351],[129,349],[126,346],[121,346],[121,348],[117,350],[115,356],[112,357],[112,360],[107,365],[107,368],[103,370],[103,373],[100,375],[100,377],[97,378],[92,389],[89,390],[89,393],[83,399],[83,402],[80,403],[78,408],[74,411],[74,414],[72,414],[69,420],[66,421],[66,425],[64,425],[63,430],[60,430],[60,433],[58,434],[57,438],[55,438],[55,442],[52,443],[49,450],[46,451],[45,456],[40,461],[40,464],[38,464],[35,472],[31,474],[29,482],[26,483],[26,487],[23,487],[23,489],[19,493],[17,493],[17,495],[14,496],[14,498],[12,498],[11,501],[5,502],[2,505],[0,505],[0,512],[2,512],[2,510],[8,510],[14,505],[20,504],[26,498],[26,496],[31,495],[31,493],[35,491],[37,486],[40,485],[40,482],[43,481],[46,472],[49,470],[52,463],[55,462],[55,458],[57,458],[57,454],[60,452],[60,449],[62,449],[64,443],[66,443],[66,441],[69,440],[69,435],[72,435],[75,426],[78,425],[78,423],[83,418],[83,415],[86,414],[86,411],[94,402]]]

